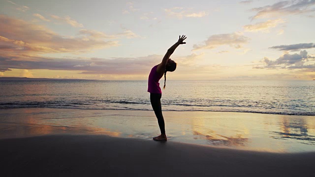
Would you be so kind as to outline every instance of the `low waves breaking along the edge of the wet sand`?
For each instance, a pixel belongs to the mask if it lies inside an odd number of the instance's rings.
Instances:
[[[92,103],[82,103],[82,102],[66,102],[66,101],[47,101],[47,102],[7,102],[0,103],[0,109],[11,109],[11,108],[56,108],[56,109],[80,109],[80,110],[135,110],[135,111],[152,111],[152,108],[149,106],[150,103],[139,103],[139,102],[128,102],[128,101],[112,101],[113,104],[117,105],[107,105],[107,106],[98,106]],[[146,107],[126,107],[120,105],[147,105]],[[235,105],[234,107],[227,105],[216,105],[216,106],[206,106],[206,105],[192,105],[192,104],[164,104],[164,105],[175,105],[174,108],[163,108],[163,111],[175,111],[175,112],[185,112],[185,111],[202,111],[202,112],[234,112],[234,113],[257,113],[257,114],[272,114],[272,115],[295,115],[295,116],[315,116],[314,111],[272,111],[268,108],[265,110],[254,110],[246,109],[246,107],[242,107],[243,109],[238,109],[240,106]],[[188,109],[188,107],[193,107],[192,109]],[[231,109],[229,109],[231,107]],[[206,108],[206,109],[205,109]],[[224,108],[224,110],[222,110]],[[232,109],[234,108],[234,109]],[[259,108],[261,109],[261,108]],[[270,110],[270,111],[267,111]]]

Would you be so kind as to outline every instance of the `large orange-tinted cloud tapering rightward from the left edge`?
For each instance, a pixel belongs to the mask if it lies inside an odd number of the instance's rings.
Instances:
[[[0,15],[0,26],[0,50],[10,52],[10,54],[76,53],[118,46],[118,41],[104,41],[85,36],[62,36],[44,26],[5,15]]]

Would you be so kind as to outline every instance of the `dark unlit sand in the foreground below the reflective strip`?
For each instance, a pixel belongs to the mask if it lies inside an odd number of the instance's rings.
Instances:
[[[315,152],[258,152],[106,135],[2,139],[0,157],[2,177],[315,176]]]

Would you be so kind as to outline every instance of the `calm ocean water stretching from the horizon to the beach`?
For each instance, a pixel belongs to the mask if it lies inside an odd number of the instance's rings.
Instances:
[[[1,81],[2,108],[152,110],[147,81]],[[164,81],[160,80],[163,87]],[[166,81],[163,111],[315,116],[315,81]]]

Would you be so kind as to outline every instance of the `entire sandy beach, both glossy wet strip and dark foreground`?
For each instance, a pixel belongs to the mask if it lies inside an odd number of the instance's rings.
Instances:
[[[149,111],[0,110],[1,176],[314,176],[314,117]]]

